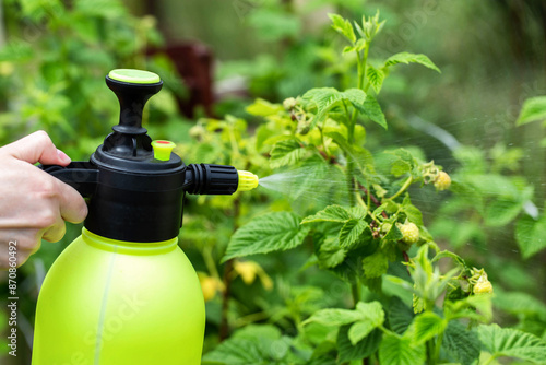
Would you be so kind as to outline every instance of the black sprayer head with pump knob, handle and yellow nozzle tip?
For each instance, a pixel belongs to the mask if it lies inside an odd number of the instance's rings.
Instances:
[[[159,92],[155,73],[114,70],[106,84],[120,104],[119,125],[90,162],[67,167],[40,166],[91,198],[85,227],[103,237],[126,242],[159,242],[178,236],[186,192],[230,195],[250,190],[258,177],[233,166],[186,166],[171,152],[174,143],[154,141],[142,127],[144,105]]]

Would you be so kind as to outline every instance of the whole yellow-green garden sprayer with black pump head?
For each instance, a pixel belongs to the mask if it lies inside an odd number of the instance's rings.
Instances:
[[[159,78],[114,70],[119,125],[90,162],[44,170],[90,198],[82,235],[59,256],[38,297],[33,365],[201,363],[204,301],[178,233],[186,192],[230,195],[258,185],[232,166],[185,165],[174,143],[142,128]]]

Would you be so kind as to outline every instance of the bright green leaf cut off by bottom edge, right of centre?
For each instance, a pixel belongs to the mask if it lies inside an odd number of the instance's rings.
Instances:
[[[417,365],[425,363],[425,348],[414,345],[412,339],[394,334],[383,335],[379,346],[381,365]]]

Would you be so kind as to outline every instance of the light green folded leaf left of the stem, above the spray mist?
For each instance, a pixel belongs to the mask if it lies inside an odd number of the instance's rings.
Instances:
[[[310,125],[310,129],[313,129],[334,106],[341,105],[343,102],[349,102],[352,105],[364,104],[366,93],[359,89],[340,92],[333,87],[318,87],[305,93],[304,98],[311,101],[317,106],[317,114]]]

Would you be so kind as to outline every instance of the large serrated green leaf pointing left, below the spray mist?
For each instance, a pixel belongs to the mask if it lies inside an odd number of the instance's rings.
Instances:
[[[299,217],[294,213],[274,212],[258,216],[232,236],[222,261],[294,248],[301,245],[309,228],[300,226]]]

